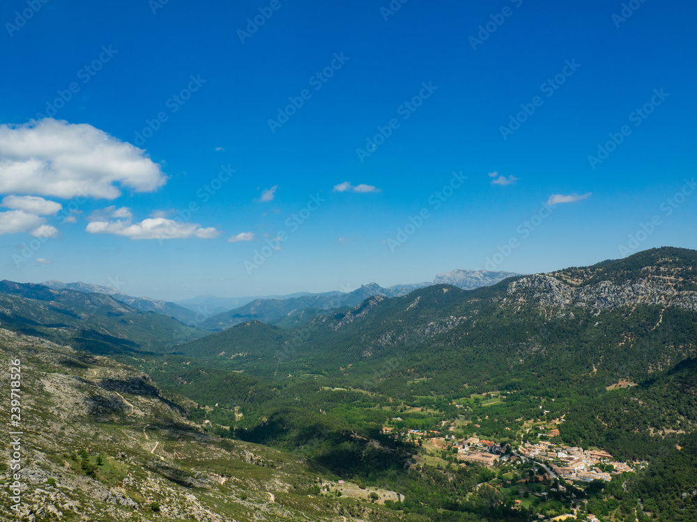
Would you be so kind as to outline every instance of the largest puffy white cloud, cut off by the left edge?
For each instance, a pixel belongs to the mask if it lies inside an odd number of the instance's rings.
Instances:
[[[166,181],[144,150],[92,125],[53,118],[0,125],[0,193],[114,199],[118,185],[152,192]]]

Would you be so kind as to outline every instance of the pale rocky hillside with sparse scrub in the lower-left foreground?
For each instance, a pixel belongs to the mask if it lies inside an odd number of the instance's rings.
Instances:
[[[302,457],[213,436],[187,418],[195,404],[165,395],[132,367],[4,329],[0,355],[7,397],[7,361],[21,361],[24,520],[396,518],[365,499],[319,496],[316,486],[337,483]],[[7,445],[2,453],[0,505],[8,514]]]

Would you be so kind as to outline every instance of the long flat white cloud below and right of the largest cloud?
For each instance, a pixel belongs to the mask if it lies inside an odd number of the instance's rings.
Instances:
[[[140,223],[130,219],[116,221],[91,221],[85,230],[91,234],[114,234],[131,239],[213,239],[220,232],[213,227],[203,228],[198,223],[183,223],[174,219],[148,218]]]

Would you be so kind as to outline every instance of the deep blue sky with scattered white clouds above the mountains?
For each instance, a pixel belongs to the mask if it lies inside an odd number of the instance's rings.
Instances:
[[[3,278],[181,299],[696,248],[697,6],[366,4],[3,3]]]

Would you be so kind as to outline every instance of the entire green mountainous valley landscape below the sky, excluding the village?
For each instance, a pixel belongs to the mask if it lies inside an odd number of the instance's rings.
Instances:
[[[199,323],[215,333],[73,288],[0,283],[0,351],[26,372],[24,516],[697,516],[696,251],[653,248],[473,290],[371,284],[260,299]],[[591,484],[537,461],[492,472],[457,465],[446,436],[514,455],[546,440],[601,448],[634,470]]]

